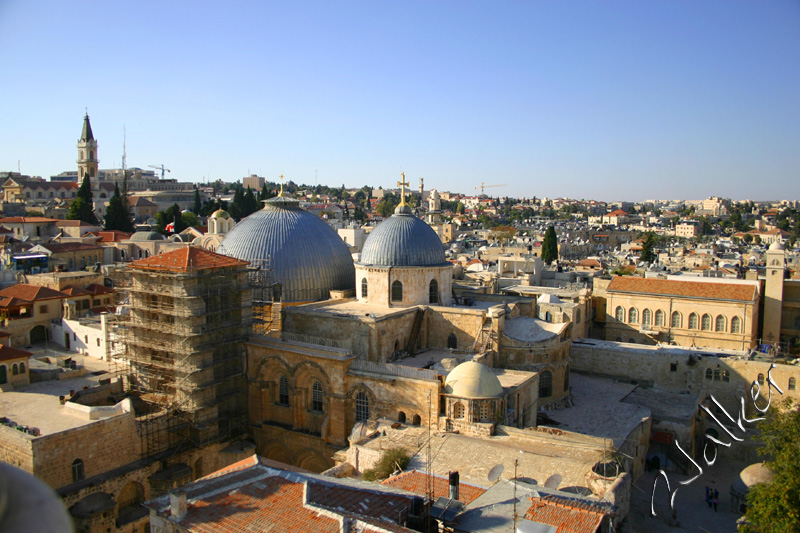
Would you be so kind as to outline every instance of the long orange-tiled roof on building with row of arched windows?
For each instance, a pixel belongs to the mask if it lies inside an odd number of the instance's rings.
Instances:
[[[758,297],[758,287],[755,285],[646,279],[628,276],[617,276],[612,279],[607,291],[699,298],[703,300],[736,300],[741,302],[754,302]]]

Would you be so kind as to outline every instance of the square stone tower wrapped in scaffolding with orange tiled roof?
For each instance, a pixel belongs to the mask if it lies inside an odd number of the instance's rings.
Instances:
[[[186,247],[125,268],[127,312],[113,341],[129,392],[152,413],[142,425],[144,454],[201,447],[246,428],[247,264]]]

